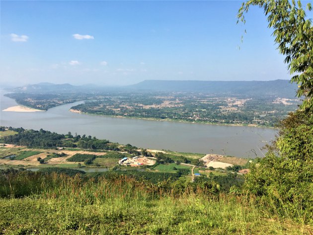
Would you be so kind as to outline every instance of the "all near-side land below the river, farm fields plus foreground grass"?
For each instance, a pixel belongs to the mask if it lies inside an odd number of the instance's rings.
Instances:
[[[240,192],[244,176],[237,172],[249,167],[248,159],[3,129],[2,234],[311,235],[310,223],[279,217],[271,204]],[[34,147],[47,140],[54,146]],[[119,164],[122,158],[143,165]],[[207,162],[233,166],[214,168]],[[39,171],[24,170],[32,167]],[[81,171],[86,167],[107,171]]]

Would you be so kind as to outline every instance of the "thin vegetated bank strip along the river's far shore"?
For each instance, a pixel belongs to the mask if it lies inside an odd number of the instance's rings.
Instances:
[[[188,120],[170,119],[170,118],[161,119],[161,118],[127,117],[127,116],[118,116],[118,115],[95,114],[95,113],[81,112],[80,110],[72,109],[72,108],[69,111],[73,113],[78,113],[78,114],[100,116],[100,117],[105,116],[105,117],[112,117],[112,118],[140,119],[140,120],[157,121],[157,122],[177,122],[177,123],[206,124],[206,125],[216,125],[216,126],[258,127],[258,128],[268,128],[268,129],[278,129],[277,127],[261,126],[257,124],[228,124],[228,123],[215,123],[215,122],[205,122],[205,121],[188,121]]]

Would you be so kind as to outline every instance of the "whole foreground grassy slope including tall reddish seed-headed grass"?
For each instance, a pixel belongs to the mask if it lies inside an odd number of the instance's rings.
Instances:
[[[9,177],[25,182],[30,195],[0,199],[0,234],[310,235],[312,230],[260,209],[254,198],[188,188],[165,192],[125,176],[82,182],[53,174],[45,184],[40,174]]]

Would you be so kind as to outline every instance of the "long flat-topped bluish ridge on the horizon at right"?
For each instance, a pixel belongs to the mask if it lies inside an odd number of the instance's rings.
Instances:
[[[281,79],[271,81],[144,80],[130,85],[129,88],[142,91],[204,92],[294,98],[297,84]]]

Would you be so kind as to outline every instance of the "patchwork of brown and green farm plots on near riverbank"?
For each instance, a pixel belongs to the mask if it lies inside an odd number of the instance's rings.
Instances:
[[[14,146],[14,145],[5,145],[0,147],[0,166],[19,166],[19,167],[70,167],[70,168],[78,168],[78,163],[80,166],[86,166],[82,161],[68,161],[70,157],[73,157],[77,154],[79,155],[94,155],[96,156],[94,159],[93,164],[88,165],[88,167],[107,167],[112,168],[118,165],[124,166],[131,166],[131,167],[141,167],[141,166],[153,166],[156,164],[156,157],[154,155],[156,153],[163,153],[165,155],[172,156],[173,158],[176,157],[188,157],[199,160],[202,157],[202,154],[192,154],[192,153],[178,153],[172,151],[157,151],[157,150],[147,150],[147,152],[152,154],[152,157],[129,157],[127,160],[123,161],[119,164],[119,158],[110,158],[105,157],[107,153],[99,153],[99,152],[92,152],[92,150],[78,150],[74,151],[75,149],[67,150],[53,150],[53,149],[30,149],[25,146]],[[124,152],[114,152],[112,153],[117,154],[124,154]],[[54,155],[57,154],[57,155]],[[58,155],[64,154],[64,157],[59,157]],[[10,157],[11,156],[11,157]],[[14,157],[13,157],[14,156]],[[51,157],[52,156],[52,157]],[[206,155],[203,157],[207,160],[207,156],[217,156],[214,158],[210,165],[214,166],[215,168],[225,168],[223,162],[233,162],[233,164],[240,164],[245,165],[247,163],[247,159],[236,158],[236,157],[223,157],[218,155]],[[47,159],[44,164],[40,164],[38,158]],[[218,159],[218,161],[216,161]],[[204,162],[206,163],[206,162]],[[222,163],[217,164],[216,166],[214,163]],[[227,164],[226,166],[233,165]],[[194,165],[190,163],[180,163],[177,165],[176,163],[165,163],[165,164],[157,164],[153,168],[149,168],[150,172],[176,172],[177,169],[191,169]],[[191,171],[190,171],[191,172]]]

